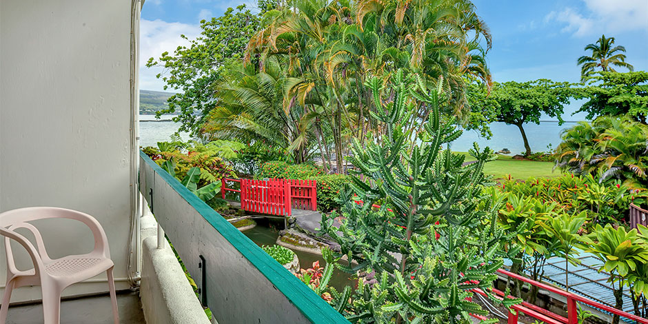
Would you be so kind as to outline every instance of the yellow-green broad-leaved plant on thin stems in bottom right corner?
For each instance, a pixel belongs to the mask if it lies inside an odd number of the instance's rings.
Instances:
[[[642,232],[636,229],[626,232],[624,227],[596,225],[596,229],[583,239],[588,244],[585,252],[594,254],[603,263],[598,271],[610,274],[608,282],[615,290],[618,310],[622,310],[623,287],[628,284],[629,274],[648,263],[648,229],[641,228]],[[614,315],[612,323],[619,323],[618,315]]]

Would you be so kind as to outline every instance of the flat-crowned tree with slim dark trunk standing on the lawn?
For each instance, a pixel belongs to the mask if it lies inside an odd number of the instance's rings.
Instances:
[[[559,123],[563,123],[563,107],[576,93],[568,82],[547,79],[494,83],[490,92],[482,85],[472,84],[468,91],[471,93],[469,105],[473,112],[491,115],[490,121],[518,126],[525,143],[525,155],[531,154],[531,147],[523,125],[539,125],[543,115],[557,118]]]

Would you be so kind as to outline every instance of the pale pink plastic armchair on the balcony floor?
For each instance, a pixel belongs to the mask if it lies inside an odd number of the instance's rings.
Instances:
[[[39,231],[28,223],[39,219],[74,219],[90,227],[94,235],[94,250],[88,254],[64,256],[61,259],[50,259],[43,238]],[[15,232],[26,228],[34,234],[36,247],[25,236]],[[7,318],[11,291],[24,285],[41,285],[43,292],[43,316],[45,324],[58,324],[60,321],[61,292],[72,285],[90,279],[101,272],[108,274],[108,287],[112,301],[114,323],[119,324],[117,313],[117,295],[114,290],[108,239],[99,222],[88,214],[56,207],[28,207],[10,210],[0,214],[0,234],[5,236],[7,252],[7,285],[0,307],[0,324]],[[11,251],[10,239],[17,241],[30,254],[34,268],[21,271],[16,268]]]

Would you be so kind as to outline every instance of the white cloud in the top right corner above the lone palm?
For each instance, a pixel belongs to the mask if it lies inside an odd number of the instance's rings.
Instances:
[[[648,30],[648,1],[645,0],[583,0],[587,10],[579,12],[568,7],[545,16],[545,23],[565,25],[562,32],[576,37],[591,34]]]

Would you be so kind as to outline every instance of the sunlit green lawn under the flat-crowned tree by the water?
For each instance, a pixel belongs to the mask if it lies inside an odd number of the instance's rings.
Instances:
[[[465,154],[466,161],[473,161],[474,157],[468,156],[467,152],[455,152],[457,154]],[[538,161],[519,161],[514,160],[511,156],[498,155],[496,161],[486,163],[484,173],[493,174],[495,179],[506,178],[509,174],[514,179],[525,180],[531,176],[548,177],[559,176],[560,170],[551,172],[554,168],[553,162],[538,162]]]

